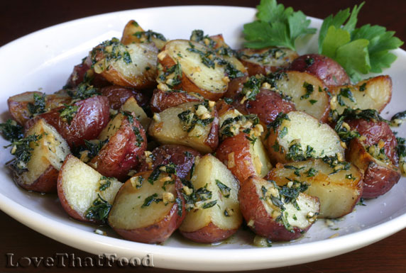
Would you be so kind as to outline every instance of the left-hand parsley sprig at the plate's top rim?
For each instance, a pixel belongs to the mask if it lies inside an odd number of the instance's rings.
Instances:
[[[267,48],[270,46],[295,50],[295,41],[302,35],[316,33],[308,28],[310,20],[302,11],[278,4],[276,0],[261,0],[257,6],[258,21],[244,25],[246,48]]]

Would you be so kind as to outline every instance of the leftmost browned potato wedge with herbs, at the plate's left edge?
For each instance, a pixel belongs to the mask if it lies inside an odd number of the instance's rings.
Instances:
[[[9,97],[7,104],[11,116],[24,125],[26,121],[40,113],[45,113],[62,104],[70,103],[70,96],[61,94],[46,95],[38,91],[28,91]]]

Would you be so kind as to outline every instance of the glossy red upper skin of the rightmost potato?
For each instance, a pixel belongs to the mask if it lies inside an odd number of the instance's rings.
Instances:
[[[385,155],[387,155],[392,161],[393,165],[397,165],[398,157],[396,152],[397,141],[388,123],[385,121],[366,121],[365,119],[353,119],[346,121],[349,124],[351,130],[357,130],[358,133],[366,137],[364,144],[367,146],[375,145],[379,143],[379,140],[383,140],[385,145]]]

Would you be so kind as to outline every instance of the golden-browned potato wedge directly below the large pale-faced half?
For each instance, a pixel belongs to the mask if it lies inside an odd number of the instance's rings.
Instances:
[[[307,183],[305,194],[320,201],[318,218],[339,218],[353,211],[363,192],[363,174],[349,162],[335,158],[277,164],[266,176],[283,186],[290,181]]]

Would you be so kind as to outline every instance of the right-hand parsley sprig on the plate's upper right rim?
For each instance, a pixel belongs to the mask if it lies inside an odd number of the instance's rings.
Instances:
[[[359,82],[361,73],[380,73],[390,67],[396,56],[389,50],[403,44],[393,36],[395,32],[386,31],[382,26],[367,24],[356,28],[363,4],[354,6],[351,13],[345,9],[325,18],[319,34],[319,53],[339,62],[353,82]]]

